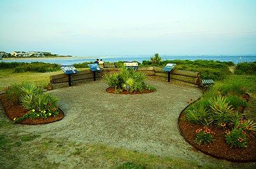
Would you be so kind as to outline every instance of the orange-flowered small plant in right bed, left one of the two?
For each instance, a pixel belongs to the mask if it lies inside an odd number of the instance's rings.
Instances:
[[[197,136],[195,137],[194,142],[198,145],[208,144],[214,141],[215,132],[207,127],[197,129],[195,132],[197,133]]]

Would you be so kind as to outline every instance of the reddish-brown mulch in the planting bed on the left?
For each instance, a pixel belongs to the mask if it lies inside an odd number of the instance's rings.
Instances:
[[[0,94],[0,101],[2,102],[3,109],[5,109],[6,116],[8,116],[8,118],[11,121],[13,121],[14,118],[17,119],[19,117],[22,117],[26,113],[28,113],[27,110],[23,109],[22,105],[13,104],[12,102],[10,102],[6,97],[5,93]],[[26,120],[23,120],[22,122],[19,122],[18,124],[47,124],[47,123],[52,123],[52,122],[61,120],[63,119],[63,117],[64,117],[64,113],[62,112],[61,109],[59,109],[59,115],[56,117],[50,116],[50,117],[47,117],[46,119],[42,117],[37,119],[28,118]]]

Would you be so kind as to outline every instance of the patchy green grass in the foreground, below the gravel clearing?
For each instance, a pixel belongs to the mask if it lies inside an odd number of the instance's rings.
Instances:
[[[24,138],[32,138],[26,139]],[[196,161],[172,159],[101,144],[81,144],[63,138],[0,133],[3,168],[215,168]]]

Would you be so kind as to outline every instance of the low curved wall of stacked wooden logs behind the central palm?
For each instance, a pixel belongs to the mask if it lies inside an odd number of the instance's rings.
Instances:
[[[121,71],[120,68],[104,68],[102,71],[95,72],[96,80],[101,79],[105,74],[115,74]],[[140,67],[137,71],[144,72],[147,76],[161,76],[168,79],[168,72],[162,71],[160,67]],[[61,87],[69,86],[69,75],[59,74],[52,75],[49,77],[50,83],[48,85],[49,89],[58,89]],[[70,75],[71,83],[79,84],[90,82],[94,80],[94,73],[90,69],[79,71],[77,74]],[[182,71],[173,69],[170,71],[170,79],[176,79],[187,83],[192,83],[195,85],[201,84],[201,75],[198,72]]]

